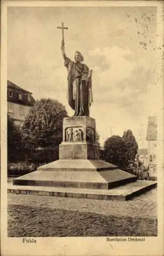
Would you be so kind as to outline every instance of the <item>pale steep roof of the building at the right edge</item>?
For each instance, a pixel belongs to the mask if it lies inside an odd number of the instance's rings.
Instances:
[[[149,116],[147,140],[157,140],[157,117]]]

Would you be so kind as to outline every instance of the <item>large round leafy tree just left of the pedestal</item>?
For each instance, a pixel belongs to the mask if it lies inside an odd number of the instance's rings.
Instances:
[[[63,117],[66,115],[65,106],[58,100],[48,98],[36,101],[22,127],[29,160],[56,160],[58,145],[62,141]]]

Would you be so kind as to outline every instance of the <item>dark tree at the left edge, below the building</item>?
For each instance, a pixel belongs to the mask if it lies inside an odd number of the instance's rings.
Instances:
[[[8,162],[15,162],[24,159],[25,148],[22,143],[21,130],[9,115],[7,116],[7,145]]]

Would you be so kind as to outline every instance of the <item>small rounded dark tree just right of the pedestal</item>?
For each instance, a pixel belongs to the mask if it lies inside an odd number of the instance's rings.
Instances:
[[[119,168],[125,168],[127,165],[126,145],[122,137],[111,136],[105,141],[104,149],[105,161],[118,165]]]

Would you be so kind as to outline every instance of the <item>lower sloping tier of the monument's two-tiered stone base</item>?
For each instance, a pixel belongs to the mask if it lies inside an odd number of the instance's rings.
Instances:
[[[73,170],[36,170],[13,180],[14,185],[110,189],[129,182],[136,176],[120,169],[86,172]]]

